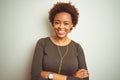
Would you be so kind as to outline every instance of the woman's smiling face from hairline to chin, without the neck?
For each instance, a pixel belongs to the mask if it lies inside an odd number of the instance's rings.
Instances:
[[[59,38],[65,38],[73,27],[72,18],[69,13],[57,13],[53,21],[54,31]]]

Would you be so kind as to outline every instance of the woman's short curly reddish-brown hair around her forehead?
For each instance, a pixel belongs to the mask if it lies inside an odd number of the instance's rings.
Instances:
[[[74,5],[71,5],[71,3],[64,3],[64,2],[57,2],[52,9],[50,9],[49,11],[49,20],[50,22],[53,24],[55,15],[59,12],[67,12],[71,15],[72,17],[72,23],[73,23],[73,27],[76,26],[76,24],[78,23],[78,10],[77,8],[75,8]]]

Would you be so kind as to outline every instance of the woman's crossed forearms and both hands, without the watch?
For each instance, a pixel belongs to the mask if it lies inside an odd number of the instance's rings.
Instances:
[[[85,69],[78,70],[73,76],[57,74],[57,73],[48,72],[48,71],[42,71],[40,75],[44,79],[48,79],[48,75],[50,73],[54,75],[53,80],[89,80],[89,73]]]

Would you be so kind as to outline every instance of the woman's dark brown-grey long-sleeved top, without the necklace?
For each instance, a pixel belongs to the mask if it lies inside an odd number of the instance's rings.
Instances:
[[[40,76],[42,70],[58,73],[61,60],[59,50],[63,56],[67,46],[68,53],[63,59],[61,74],[67,75],[67,80],[82,80],[72,76],[78,69],[87,69],[80,44],[72,40],[66,46],[57,46],[49,37],[42,38],[37,42],[32,63],[31,80],[45,80]],[[84,80],[89,79],[85,78]]]

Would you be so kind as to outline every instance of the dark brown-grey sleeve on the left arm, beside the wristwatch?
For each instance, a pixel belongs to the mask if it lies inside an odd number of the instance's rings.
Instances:
[[[33,56],[31,80],[45,80],[40,76],[40,72],[42,71],[43,49],[44,49],[44,42],[41,39],[37,42]]]

